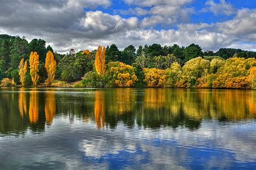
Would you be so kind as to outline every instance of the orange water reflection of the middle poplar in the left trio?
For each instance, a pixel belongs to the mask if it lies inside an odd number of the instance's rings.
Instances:
[[[29,121],[30,123],[38,121],[38,93],[36,91],[30,92]]]

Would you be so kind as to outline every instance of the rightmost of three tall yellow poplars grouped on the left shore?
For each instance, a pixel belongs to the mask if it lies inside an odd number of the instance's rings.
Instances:
[[[45,58],[45,69],[47,71],[48,78],[45,80],[46,86],[51,86],[52,81],[55,78],[56,61],[54,60],[53,53],[48,51]]]

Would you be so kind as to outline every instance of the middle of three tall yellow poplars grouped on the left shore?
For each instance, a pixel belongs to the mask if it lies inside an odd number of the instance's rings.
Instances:
[[[37,52],[31,52],[29,57],[30,65],[30,76],[34,86],[37,86],[39,75],[38,75],[38,65],[39,65],[39,55]]]

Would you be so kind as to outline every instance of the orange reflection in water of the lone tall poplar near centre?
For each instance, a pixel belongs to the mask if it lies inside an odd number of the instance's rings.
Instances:
[[[103,128],[105,126],[105,108],[104,108],[104,94],[100,92],[95,92],[95,121],[98,128]]]

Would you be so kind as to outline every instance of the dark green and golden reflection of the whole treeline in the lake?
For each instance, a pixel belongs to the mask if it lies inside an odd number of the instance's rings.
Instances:
[[[89,93],[90,92],[90,93]],[[256,93],[207,89],[102,89],[39,91],[18,89],[0,94],[1,131],[31,127],[44,130],[55,114],[72,120],[95,121],[97,128],[116,128],[123,123],[160,128],[179,126],[190,130],[202,120],[240,121],[256,118]],[[19,114],[17,114],[19,113]],[[21,126],[21,127],[19,127]]]

